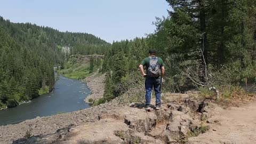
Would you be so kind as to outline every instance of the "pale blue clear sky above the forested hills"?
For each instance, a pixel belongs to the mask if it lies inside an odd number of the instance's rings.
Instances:
[[[166,17],[165,0],[3,0],[0,15],[60,31],[89,33],[111,43],[154,33],[155,17]]]

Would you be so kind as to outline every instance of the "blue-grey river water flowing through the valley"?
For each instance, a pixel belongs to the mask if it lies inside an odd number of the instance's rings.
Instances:
[[[0,110],[0,125],[89,108],[84,102],[89,94],[86,83],[60,75],[51,93],[43,94],[17,107]]]

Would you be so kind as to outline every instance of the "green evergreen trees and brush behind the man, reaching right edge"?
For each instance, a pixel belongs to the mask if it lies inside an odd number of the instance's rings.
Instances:
[[[255,84],[256,1],[167,2],[169,16],[157,18],[154,34],[113,43],[103,63],[108,76],[101,101],[131,92],[132,87],[143,97],[137,67],[149,49],[156,49],[166,64],[165,91],[199,89],[231,98],[241,92],[242,83]]]

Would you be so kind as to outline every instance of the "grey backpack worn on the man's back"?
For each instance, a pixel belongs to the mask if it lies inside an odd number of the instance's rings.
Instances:
[[[159,77],[161,75],[157,57],[150,58],[147,72],[149,77]]]

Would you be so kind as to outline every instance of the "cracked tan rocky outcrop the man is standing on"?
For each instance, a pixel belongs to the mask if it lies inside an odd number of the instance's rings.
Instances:
[[[168,103],[162,110],[146,111],[141,103],[106,111],[98,121],[60,129],[13,143],[179,143],[199,125],[199,104]],[[197,107],[197,108],[196,108]]]

